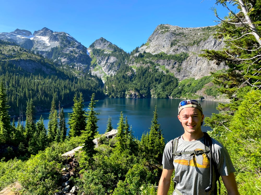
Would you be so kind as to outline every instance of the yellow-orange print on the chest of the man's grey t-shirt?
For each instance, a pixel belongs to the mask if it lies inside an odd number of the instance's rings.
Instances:
[[[195,149],[195,150],[202,150],[202,149]],[[202,160],[198,160],[200,162],[197,162],[197,158],[199,156],[201,156],[203,159],[201,158]],[[186,158],[186,159],[184,159],[184,158]],[[191,156],[191,157],[184,157],[184,158],[175,159],[174,162],[181,164],[181,165],[193,166],[193,167],[198,167],[198,168],[209,168],[210,167],[210,161],[207,158],[206,153],[198,154],[197,156],[195,154],[193,154],[193,156]],[[188,159],[191,159],[191,160],[189,160],[189,163],[188,163]]]

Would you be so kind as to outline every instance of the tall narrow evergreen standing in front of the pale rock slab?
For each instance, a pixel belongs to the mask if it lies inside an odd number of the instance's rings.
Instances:
[[[82,136],[85,139],[83,149],[89,159],[92,159],[93,155],[96,153],[94,150],[95,144],[94,144],[93,140],[94,140],[94,136],[98,133],[97,132],[97,130],[98,130],[97,115],[99,113],[95,112],[95,110],[94,110],[94,108],[96,108],[95,102],[97,102],[98,100],[94,100],[94,97],[95,97],[95,94],[93,93],[92,97],[91,97],[91,102],[88,106],[89,110],[87,111],[86,128],[85,128],[85,131],[82,131]]]

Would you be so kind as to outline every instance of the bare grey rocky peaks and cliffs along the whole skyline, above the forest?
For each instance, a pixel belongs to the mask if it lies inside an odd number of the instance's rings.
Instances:
[[[150,62],[164,67],[163,72],[170,72],[179,80],[194,77],[199,79],[210,72],[224,69],[224,64],[199,57],[203,49],[220,50],[224,43],[217,41],[212,34],[216,27],[181,28],[169,24],[160,24],[149,36],[146,44],[127,54],[116,45],[100,38],[87,48],[65,32],[54,32],[48,28],[34,31],[16,29],[10,33],[0,33],[0,39],[14,42],[23,48],[42,54],[57,62],[68,64],[79,71],[90,70],[103,81],[108,75],[117,73],[121,66],[150,66]],[[89,55],[89,52],[91,55]],[[167,55],[186,54],[182,62],[173,59],[149,59],[148,63],[135,60],[139,54],[161,52]],[[91,56],[91,57],[90,57]],[[91,63],[92,61],[92,63]]]

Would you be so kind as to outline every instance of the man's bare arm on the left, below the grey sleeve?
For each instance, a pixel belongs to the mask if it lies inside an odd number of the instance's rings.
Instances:
[[[159,180],[158,193],[157,195],[167,195],[170,186],[171,175],[174,169],[168,170],[163,169],[161,179]]]

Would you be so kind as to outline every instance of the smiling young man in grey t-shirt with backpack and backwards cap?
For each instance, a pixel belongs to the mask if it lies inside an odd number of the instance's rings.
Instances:
[[[210,185],[210,165],[212,164],[210,164],[210,159],[207,156],[209,155],[208,152],[189,154],[191,151],[206,151],[206,135],[201,131],[204,115],[200,103],[197,100],[181,101],[178,119],[184,128],[184,134],[178,138],[176,147],[173,146],[173,140],[165,146],[162,160],[163,171],[157,194],[168,194],[171,175],[175,169],[174,182],[176,187],[173,192],[174,195],[214,195],[216,174],[221,175],[228,195],[238,195],[234,176],[235,168],[224,146],[211,138],[212,145],[210,148],[212,148],[212,158],[216,165],[216,168],[213,168],[212,185]],[[176,152],[173,156],[174,147]],[[215,173],[215,169],[218,173]],[[206,192],[207,188],[209,188],[208,192]]]

